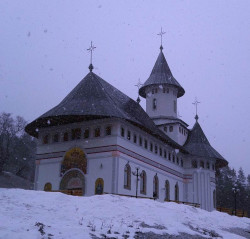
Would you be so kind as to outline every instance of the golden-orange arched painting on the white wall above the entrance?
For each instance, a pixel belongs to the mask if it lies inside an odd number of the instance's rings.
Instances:
[[[65,154],[61,166],[61,175],[71,168],[78,168],[83,173],[87,173],[87,158],[80,148],[73,148]]]

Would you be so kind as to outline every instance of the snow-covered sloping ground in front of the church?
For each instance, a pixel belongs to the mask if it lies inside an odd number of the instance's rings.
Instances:
[[[1,239],[123,239],[147,232],[246,238],[231,228],[250,231],[250,219],[149,199],[0,189]]]

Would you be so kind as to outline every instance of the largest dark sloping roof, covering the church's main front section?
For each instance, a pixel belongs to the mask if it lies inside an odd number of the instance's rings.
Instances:
[[[93,72],[89,72],[61,103],[28,124],[25,130],[37,137],[37,129],[42,127],[111,117],[127,120],[165,143],[183,149],[157,128],[137,102]]]

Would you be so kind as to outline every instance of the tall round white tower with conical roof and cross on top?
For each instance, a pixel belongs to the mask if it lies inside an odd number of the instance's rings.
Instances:
[[[177,117],[177,99],[185,90],[174,78],[163,54],[162,35],[160,53],[146,82],[139,89],[146,99],[146,112],[154,123],[173,140],[183,145],[187,139],[187,124]]]

